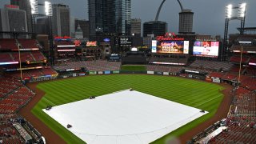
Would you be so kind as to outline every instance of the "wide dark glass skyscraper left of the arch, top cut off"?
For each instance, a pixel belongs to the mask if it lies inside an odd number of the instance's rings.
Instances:
[[[90,35],[130,35],[131,0],[88,0]]]

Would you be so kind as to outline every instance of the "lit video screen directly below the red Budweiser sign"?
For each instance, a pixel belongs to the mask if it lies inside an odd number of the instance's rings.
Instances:
[[[156,53],[189,54],[189,41],[158,41],[157,45]]]

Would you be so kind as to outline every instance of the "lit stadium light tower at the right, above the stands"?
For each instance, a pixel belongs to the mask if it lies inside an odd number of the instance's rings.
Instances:
[[[238,12],[235,10],[238,10]],[[226,51],[228,50],[227,35],[228,35],[230,20],[240,20],[241,21],[240,34],[243,34],[243,31],[245,28],[245,19],[246,19],[246,3],[239,4],[239,6],[233,6],[231,4],[226,6],[222,61],[226,61]]]

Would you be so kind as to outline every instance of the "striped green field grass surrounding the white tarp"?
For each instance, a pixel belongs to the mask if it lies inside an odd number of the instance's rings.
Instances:
[[[46,92],[45,96],[34,106],[32,113],[45,122],[55,133],[67,143],[84,143],[81,139],[66,130],[54,119],[45,114],[42,109],[46,106],[58,106],[69,102],[79,101],[92,95],[100,96],[114,91],[132,87],[134,90],[151,94],[159,98],[179,102],[187,106],[209,111],[202,116],[182,126],[178,130],[152,143],[165,143],[170,137],[186,133],[191,128],[211,118],[222,102],[223,95],[219,90],[222,86],[213,83],[199,82],[193,79],[140,74],[113,74],[86,76],[81,78],[63,79],[38,84],[38,88]]]

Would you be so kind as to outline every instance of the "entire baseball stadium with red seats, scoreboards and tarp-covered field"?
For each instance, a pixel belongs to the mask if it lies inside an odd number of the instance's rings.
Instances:
[[[146,46],[0,30],[0,143],[256,143],[255,31]]]

